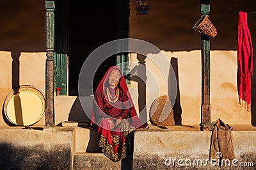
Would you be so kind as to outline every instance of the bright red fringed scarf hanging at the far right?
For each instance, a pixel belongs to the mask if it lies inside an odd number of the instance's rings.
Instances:
[[[250,111],[251,77],[253,72],[253,47],[247,25],[247,13],[239,12],[237,44],[237,90],[239,102]]]

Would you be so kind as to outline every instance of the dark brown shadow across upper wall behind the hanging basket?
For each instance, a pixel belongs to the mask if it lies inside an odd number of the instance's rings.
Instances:
[[[200,34],[193,30],[200,19],[200,1],[150,1],[148,15],[136,15],[136,0],[131,0],[129,38],[139,38],[166,51],[200,49]],[[237,49],[238,12],[255,12],[254,0],[211,1],[210,19],[218,31],[211,40],[212,50]],[[191,6],[191,8],[188,8]],[[234,10],[230,10],[228,8]],[[255,37],[255,13],[248,14],[248,26]],[[255,39],[255,38],[254,38]]]

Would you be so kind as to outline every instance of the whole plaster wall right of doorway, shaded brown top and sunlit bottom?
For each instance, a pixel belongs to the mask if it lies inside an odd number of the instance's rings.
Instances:
[[[129,38],[138,38],[156,45],[166,55],[177,70],[178,93],[177,100],[182,107],[182,124],[199,124],[201,107],[201,59],[200,59],[200,34],[193,30],[196,21],[200,19],[200,1],[175,1],[168,0],[149,1],[148,15],[137,15],[136,0],[130,1]],[[191,8],[188,8],[191,6]],[[211,1],[210,19],[218,31],[218,35],[211,39],[211,120],[223,119],[227,123],[256,125],[255,76],[252,77],[252,112],[246,112],[238,104],[236,86],[236,50],[237,50],[237,24],[239,11],[248,12],[247,24],[255,40],[255,1]],[[230,10],[231,9],[231,10]],[[228,22],[227,22],[228,20]],[[255,49],[255,43],[253,43]],[[136,54],[132,61],[140,62]],[[159,56],[159,54],[147,54]],[[255,54],[253,54],[255,56]],[[173,65],[174,64],[174,65]],[[148,58],[145,66],[157,72],[156,65]],[[253,72],[255,72],[255,62]],[[167,69],[168,70],[168,69]],[[147,111],[152,100],[157,97],[148,97],[150,79],[147,72]],[[155,77],[159,81],[160,95],[169,94],[168,86],[160,75]],[[159,80],[160,79],[160,80]],[[132,82],[131,86],[138,86]],[[141,97],[141,94],[140,94]],[[137,110],[141,111],[138,107]]]

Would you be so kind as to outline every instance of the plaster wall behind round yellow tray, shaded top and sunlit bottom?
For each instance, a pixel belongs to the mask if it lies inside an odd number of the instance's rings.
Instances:
[[[0,105],[13,88],[32,85],[45,95],[45,1],[0,2]],[[44,125],[44,117],[36,125]],[[8,127],[0,116],[0,127]]]

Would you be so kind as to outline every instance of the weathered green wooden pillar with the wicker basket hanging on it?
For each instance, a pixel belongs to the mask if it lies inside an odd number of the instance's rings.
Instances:
[[[202,17],[210,12],[210,0],[200,0],[200,13]],[[201,58],[202,58],[202,105],[201,125],[211,124],[210,105],[210,38],[201,35]]]

